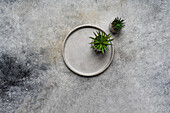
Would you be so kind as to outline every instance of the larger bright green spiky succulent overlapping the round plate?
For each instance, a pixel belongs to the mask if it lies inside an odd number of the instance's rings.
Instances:
[[[93,48],[97,52],[101,51],[104,54],[105,51],[109,50],[108,45],[112,45],[111,43],[109,43],[113,41],[113,39],[110,39],[111,34],[106,35],[103,32],[100,33],[100,31],[96,31],[94,35],[95,37],[90,37],[93,40],[91,43],[89,43],[92,45],[91,48]]]

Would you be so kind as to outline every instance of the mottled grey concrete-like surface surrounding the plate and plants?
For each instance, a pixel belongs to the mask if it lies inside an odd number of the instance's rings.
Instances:
[[[63,63],[74,27],[122,17],[115,57],[93,78]],[[0,0],[0,112],[169,113],[169,0]]]

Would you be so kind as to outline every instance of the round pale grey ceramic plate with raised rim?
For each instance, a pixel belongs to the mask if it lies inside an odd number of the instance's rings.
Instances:
[[[114,55],[113,46],[109,51],[96,53],[89,44],[94,37],[93,32],[101,31],[101,28],[93,25],[81,25],[73,29],[65,38],[63,45],[63,59],[65,64],[73,72],[82,76],[95,76],[105,71],[111,64]],[[106,33],[105,33],[106,34]]]

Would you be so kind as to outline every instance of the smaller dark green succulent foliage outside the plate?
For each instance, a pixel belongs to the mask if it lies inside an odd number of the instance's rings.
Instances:
[[[123,27],[125,27],[124,20],[118,17],[115,18],[111,24],[114,30],[121,30]]]

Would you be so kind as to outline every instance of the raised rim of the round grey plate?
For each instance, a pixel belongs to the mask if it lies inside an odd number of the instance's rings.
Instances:
[[[64,39],[64,42],[63,42],[63,46],[62,46],[62,57],[63,57],[63,61],[64,63],[66,64],[66,66],[72,71],[74,72],[75,74],[78,74],[80,76],[84,76],[84,77],[92,77],[92,76],[96,76],[96,75],[99,75],[101,73],[103,73],[104,71],[106,71],[106,69],[110,66],[110,64],[112,63],[112,60],[113,60],[113,57],[114,57],[114,46],[113,44],[111,45],[111,57],[110,57],[110,61],[107,63],[106,66],[104,66],[103,68],[101,68],[100,70],[96,71],[96,72],[93,72],[93,73],[84,73],[84,72],[80,72],[76,69],[74,69],[72,66],[70,66],[69,63],[66,62],[66,57],[65,57],[65,44],[66,44],[66,41],[67,39],[69,38],[69,36],[74,33],[75,31],[81,29],[81,28],[85,28],[85,27],[90,27],[90,28],[96,28],[102,32],[104,32],[105,34],[107,34],[104,30],[102,30],[102,28],[96,26],[96,25],[91,25],[91,24],[83,24],[83,25],[79,25],[77,27],[75,27],[74,29],[72,29],[68,34],[67,36],[65,37]]]

